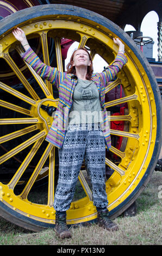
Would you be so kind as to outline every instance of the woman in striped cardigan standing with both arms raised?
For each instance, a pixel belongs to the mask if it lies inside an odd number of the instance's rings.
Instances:
[[[101,73],[92,74],[92,59],[85,48],[74,51],[67,72],[60,72],[41,62],[22,29],[14,29],[13,34],[25,50],[22,58],[59,90],[58,108],[46,137],[59,148],[59,179],[54,197],[57,234],[61,238],[71,237],[66,225],[66,211],[70,208],[84,159],[91,177],[98,223],[109,231],[117,230],[117,225],[108,217],[105,192],[105,144],[109,149],[111,141],[104,103],[106,84],[127,62],[124,45],[119,39],[113,39],[119,52],[113,64]]]

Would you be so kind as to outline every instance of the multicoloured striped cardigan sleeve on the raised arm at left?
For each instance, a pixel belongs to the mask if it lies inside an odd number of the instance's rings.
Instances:
[[[59,86],[60,77],[63,77],[60,71],[57,68],[52,68],[51,66],[46,65],[41,61],[41,59],[35,54],[32,48],[29,48],[24,54],[21,56],[23,60],[25,60],[35,72],[41,76],[43,79],[48,80],[55,86]]]

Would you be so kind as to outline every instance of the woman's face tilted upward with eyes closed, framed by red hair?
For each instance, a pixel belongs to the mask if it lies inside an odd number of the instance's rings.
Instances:
[[[86,51],[80,49],[74,53],[73,66],[79,67],[79,66],[90,66],[90,65],[91,65],[91,61]]]

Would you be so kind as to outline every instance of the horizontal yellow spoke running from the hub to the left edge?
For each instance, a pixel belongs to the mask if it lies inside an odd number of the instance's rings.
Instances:
[[[0,119],[1,124],[30,124],[30,123],[41,123],[38,118],[4,118]]]

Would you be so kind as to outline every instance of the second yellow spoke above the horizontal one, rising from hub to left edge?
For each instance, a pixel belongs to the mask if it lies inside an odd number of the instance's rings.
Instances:
[[[17,90],[7,86],[7,84],[4,84],[2,82],[0,82],[0,88],[5,90],[5,92],[10,93],[16,97],[18,97],[19,99],[26,101],[27,103],[29,103],[30,105],[35,105],[36,102],[35,100],[31,99],[30,97],[18,92]]]

